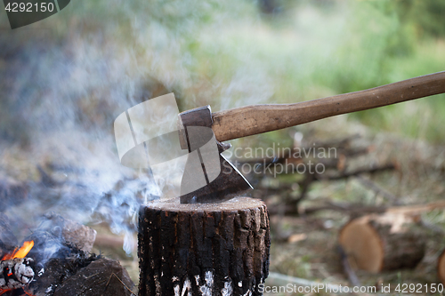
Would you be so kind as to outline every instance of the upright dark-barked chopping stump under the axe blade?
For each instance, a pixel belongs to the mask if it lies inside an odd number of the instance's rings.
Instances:
[[[263,202],[142,205],[139,295],[262,295],[269,273],[269,215]]]

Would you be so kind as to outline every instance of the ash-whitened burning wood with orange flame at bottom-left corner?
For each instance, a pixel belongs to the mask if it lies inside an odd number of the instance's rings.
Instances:
[[[0,261],[0,295],[13,289],[24,288],[34,278],[31,258],[25,258],[34,246],[34,241],[23,243],[20,248],[4,255]]]

